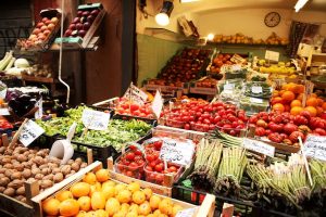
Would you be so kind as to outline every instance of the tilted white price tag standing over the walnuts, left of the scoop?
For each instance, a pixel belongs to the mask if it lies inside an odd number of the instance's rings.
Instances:
[[[23,127],[20,141],[28,146],[34,140],[36,140],[39,136],[45,132],[43,128],[38,126],[35,122],[29,119]]]

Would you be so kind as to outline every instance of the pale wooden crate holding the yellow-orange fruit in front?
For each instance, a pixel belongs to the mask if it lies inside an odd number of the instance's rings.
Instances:
[[[64,191],[64,190],[70,189],[70,187],[72,184],[80,181],[83,179],[83,176],[85,174],[87,174],[88,171],[91,171],[91,170],[96,171],[100,168],[102,168],[102,164],[100,162],[95,162],[95,163],[90,164],[89,166],[87,166],[86,168],[84,168],[83,170],[74,174],[73,176],[68,177],[64,181],[60,182],[59,184],[55,184],[52,188],[47,189],[46,191],[43,191],[39,195],[33,197],[32,201],[33,201],[34,208],[36,210],[35,216],[37,216],[37,217],[42,217],[43,216],[42,206],[41,206],[42,201],[45,201],[48,197],[55,196],[55,194],[58,194],[60,191]],[[113,174],[111,173],[111,175],[113,175]],[[129,178],[128,178],[127,182],[116,180],[113,177],[111,177],[111,180],[116,182],[116,183],[124,183],[124,184],[131,182],[131,179],[129,179]],[[143,183],[143,181],[140,181],[140,180],[137,180],[137,181],[140,183],[141,187],[146,186],[146,183]],[[161,197],[167,197],[167,196],[164,196],[164,195],[160,195],[160,196]],[[196,216],[196,217],[205,217],[205,216],[213,217],[213,215],[214,215],[215,196],[212,195],[212,194],[206,194],[206,196],[205,196],[203,203],[201,204],[201,206],[196,206],[196,205],[192,205],[192,204],[189,204],[189,203],[186,203],[186,202],[181,202],[181,201],[178,201],[178,200],[174,200],[174,199],[172,199],[172,202],[185,207],[186,209],[195,208],[195,213],[193,213],[192,216]]]

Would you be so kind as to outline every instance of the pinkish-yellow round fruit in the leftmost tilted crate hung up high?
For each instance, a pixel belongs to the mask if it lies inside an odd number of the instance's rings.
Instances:
[[[32,31],[32,35],[26,41],[26,47],[33,47],[36,44],[43,43],[50,34],[55,28],[55,25],[59,23],[58,17],[43,17],[40,22],[36,24],[36,27]]]

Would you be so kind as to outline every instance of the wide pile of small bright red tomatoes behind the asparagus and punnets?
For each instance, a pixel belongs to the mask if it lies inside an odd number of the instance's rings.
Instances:
[[[223,102],[190,101],[173,110],[164,110],[165,125],[196,131],[220,129],[231,136],[238,136],[246,129],[248,117],[243,110]]]

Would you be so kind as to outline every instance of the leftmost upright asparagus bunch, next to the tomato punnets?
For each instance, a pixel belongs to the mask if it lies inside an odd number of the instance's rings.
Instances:
[[[197,148],[195,168],[190,180],[193,186],[210,190],[215,182],[222,153],[222,144],[217,140],[203,138]]]

